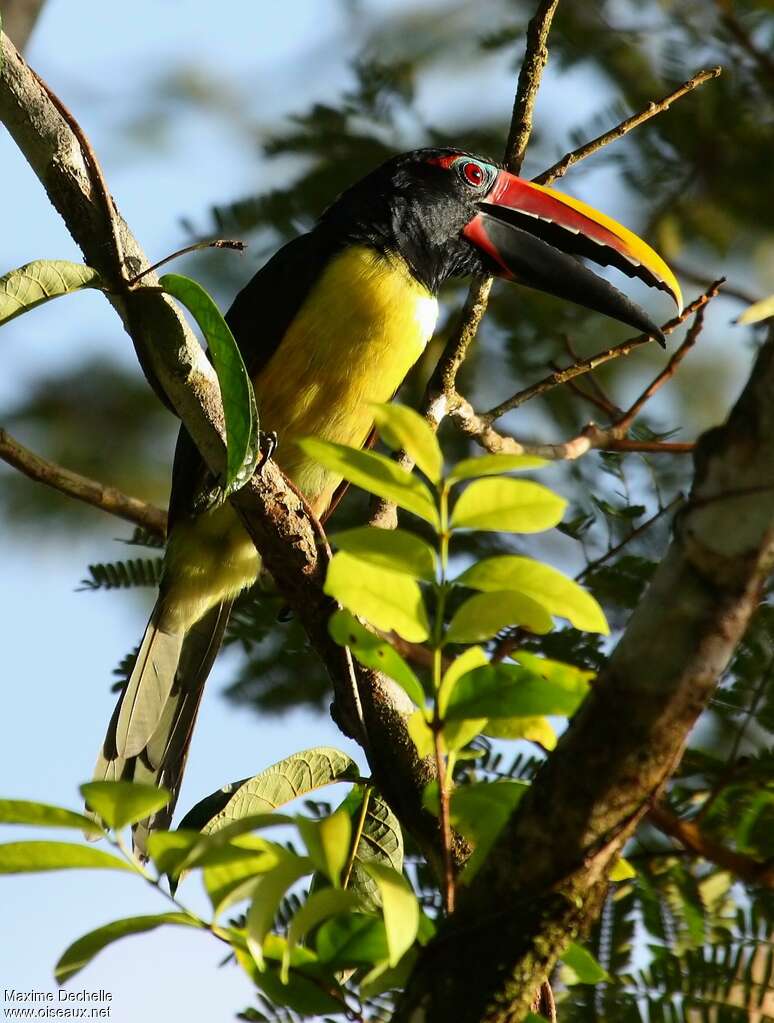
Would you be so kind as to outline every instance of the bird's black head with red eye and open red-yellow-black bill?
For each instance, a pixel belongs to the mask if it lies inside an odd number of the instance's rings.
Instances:
[[[432,294],[450,277],[494,274],[568,299],[663,341],[649,317],[578,257],[666,291],[680,287],[644,241],[561,192],[461,149],[416,149],[382,164],[325,211],[322,230],[398,253]]]

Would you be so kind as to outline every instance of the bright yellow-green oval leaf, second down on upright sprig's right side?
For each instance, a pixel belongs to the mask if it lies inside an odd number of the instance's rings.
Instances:
[[[453,529],[539,533],[561,521],[567,502],[548,487],[528,480],[475,480],[454,505]]]

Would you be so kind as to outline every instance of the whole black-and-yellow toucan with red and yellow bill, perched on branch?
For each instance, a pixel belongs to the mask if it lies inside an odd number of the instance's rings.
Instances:
[[[562,192],[454,148],[396,157],[285,244],[226,315],[276,461],[324,519],[342,484],[297,441],[356,447],[432,336],[452,277],[492,274],[613,317],[664,344],[637,305],[582,262],[613,266],[682,299],[663,259],[627,228]],[[234,598],[261,561],[185,427],[175,452],[158,598],[110,719],[96,777],[166,786],[172,801],[135,833],[168,827],[208,674]]]

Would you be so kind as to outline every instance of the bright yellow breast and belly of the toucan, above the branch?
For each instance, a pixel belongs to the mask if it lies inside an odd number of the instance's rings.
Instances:
[[[373,427],[370,405],[393,397],[437,319],[438,302],[403,259],[347,249],[328,264],[254,382],[262,429],[279,436],[277,461],[318,515],[340,479],[310,461],[294,440],[364,444]]]

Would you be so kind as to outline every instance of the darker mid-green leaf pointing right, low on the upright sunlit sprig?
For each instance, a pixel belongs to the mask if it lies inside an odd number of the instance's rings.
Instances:
[[[446,717],[568,717],[587,691],[588,684],[578,679],[549,680],[519,665],[491,664],[460,678],[449,699]]]

